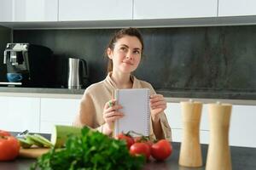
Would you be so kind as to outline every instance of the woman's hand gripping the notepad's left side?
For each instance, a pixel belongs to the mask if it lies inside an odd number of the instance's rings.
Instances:
[[[105,124],[103,126],[102,133],[109,135],[113,132],[114,122],[124,116],[122,112],[119,112],[119,109],[121,108],[121,105],[116,105],[115,99],[111,99],[105,104],[103,111],[103,119]]]

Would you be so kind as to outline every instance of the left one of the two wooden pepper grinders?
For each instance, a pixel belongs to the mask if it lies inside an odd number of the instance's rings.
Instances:
[[[201,122],[201,102],[181,102],[183,117],[183,140],[179,154],[179,165],[201,167],[201,144],[199,127]]]

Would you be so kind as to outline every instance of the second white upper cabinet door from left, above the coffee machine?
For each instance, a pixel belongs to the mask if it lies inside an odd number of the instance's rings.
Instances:
[[[13,0],[13,21],[57,21],[58,0]]]

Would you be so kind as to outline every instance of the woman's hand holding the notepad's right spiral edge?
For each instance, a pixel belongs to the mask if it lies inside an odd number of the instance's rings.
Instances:
[[[153,121],[159,121],[160,113],[166,110],[166,99],[161,94],[150,96],[150,110]]]

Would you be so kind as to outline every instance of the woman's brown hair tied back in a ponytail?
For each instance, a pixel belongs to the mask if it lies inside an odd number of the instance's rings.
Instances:
[[[123,28],[113,35],[111,38],[110,42],[108,42],[108,46],[105,50],[105,55],[108,57],[108,48],[113,50],[115,42],[117,42],[120,38],[125,37],[125,36],[131,36],[131,37],[137,37],[139,41],[142,43],[142,54],[143,54],[143,48],[144,48],[144,42],[143,42],[143,37],[141,33],[137,30],[137,28]],[[108,72],[113,71],[113,61],[112,59],[108,58]]]

